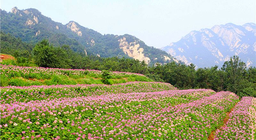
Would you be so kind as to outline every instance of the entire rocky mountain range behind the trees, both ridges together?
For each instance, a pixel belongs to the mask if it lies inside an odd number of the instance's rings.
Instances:
[[[197,67],[221,67],[231,56],[238,55],[247,67],[256,66],[255,23],[241,26],[227,23],[191,31],[162,50],[147,46],[129,34],[102,35],[75,21],[63,25],[34,8],[19,10],[14,7],[10,12],[1,10],[1,31],[32,44],[49,39],[55,46],[70,45],[74,51],[88,55],[133,58],[149,65],[175,61],[193,63]]]

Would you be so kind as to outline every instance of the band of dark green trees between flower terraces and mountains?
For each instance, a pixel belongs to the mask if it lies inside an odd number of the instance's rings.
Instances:
[[[2,42],[1,42],[2,43]],[[31,47],[29,47],[31,48]],[[95,69],[141,73],[154,81],[167,82],[179,89],[204,88],[215,91],[231,91],[243,96],[256,97],[256,68],[246,67],[238,56],[224,62],[222,67],[195,69],[194,64],[175,62],[156,63],[149,67],[144,61],[130,58],[102,58],[74,52],[68,45],[54,47],[48,40],[38,42],[32,51],[12,51],[17,65],[36,64],[39,67]]]

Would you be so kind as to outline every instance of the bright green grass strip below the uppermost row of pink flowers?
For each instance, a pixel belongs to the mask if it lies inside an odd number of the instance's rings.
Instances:
[[[35,73],[31,73],[31,76],[28,78],[21,77],[19,74],[7,77],[5,75],[1,75],[0,85],[1,87],[6,86],[32,86],[32,85],[70,85],[70,84],[104,84],[102,82],[101,75],[96,74],[88,74],[84,76],[76,76],[76,75],[52,75],[49,78],[44,78],[41,76],[32,76]],[[31,78],[33,77],[33,78]],[[153,81],[145,76],[137,76],[137,75],[125,75],[125,76],[113,76],[108,79],[109,84],[120,84],[126,83],[130,81]]]

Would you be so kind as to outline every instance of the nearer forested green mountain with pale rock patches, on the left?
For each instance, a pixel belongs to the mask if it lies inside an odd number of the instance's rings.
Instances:
[[[75,21],[63,25],[34,8],[19,10],[14,7],[10,12],[1,10],[1,31],[33,44],[48,39],[53,45],[70,45],[74,51],[88,55],[133,58],[149,65],[179,63],[165,51],[147,46],[135,36],[102,35]]]

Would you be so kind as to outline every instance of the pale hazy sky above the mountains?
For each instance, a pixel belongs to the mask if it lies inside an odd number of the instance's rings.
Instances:
[[[256,0],[1,0],[1,9],[36,8],[55,22],[70,20],[101,34],[131,34],[161,48],[193,30],[256,22]]]

